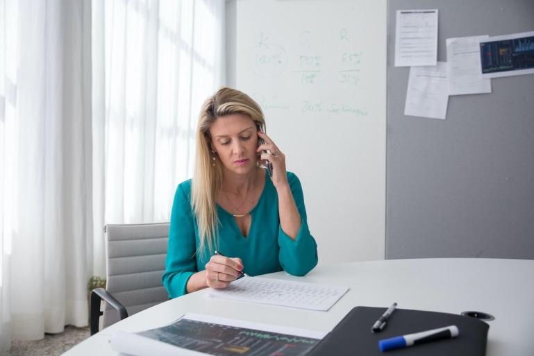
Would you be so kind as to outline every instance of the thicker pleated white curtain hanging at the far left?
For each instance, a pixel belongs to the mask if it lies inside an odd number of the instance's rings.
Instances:
[[[0,350],[87,325],[90,5],[0,0]]]

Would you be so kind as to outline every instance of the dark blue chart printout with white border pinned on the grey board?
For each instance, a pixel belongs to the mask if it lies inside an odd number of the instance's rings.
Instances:
[[[483,78],[534,74],[534,31],[487,37],[480,55]]]

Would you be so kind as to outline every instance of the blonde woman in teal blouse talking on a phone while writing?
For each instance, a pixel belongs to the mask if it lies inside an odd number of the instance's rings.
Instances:
[[[163,274],[171,298],[228,287],[242,273],[303,276],[317,264],[299,178],[262,127],[259,105],[238,90],[222,88],[204,103],[194,176],[178,185],[172,206]],[[272,177],[260,161],[272,164]]]

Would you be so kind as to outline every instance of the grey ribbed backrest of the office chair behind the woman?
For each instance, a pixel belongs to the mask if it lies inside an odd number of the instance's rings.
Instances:
[[[162,285],[169,223],[106,226],[106,290],[119,300],[128,316],[168,300]],[[103,328],[119,321],[106,303]]]

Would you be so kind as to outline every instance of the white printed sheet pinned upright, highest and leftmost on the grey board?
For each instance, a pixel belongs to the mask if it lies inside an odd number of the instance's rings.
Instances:
[[[395,67],[436,65],[437,9],[397,10]]]

